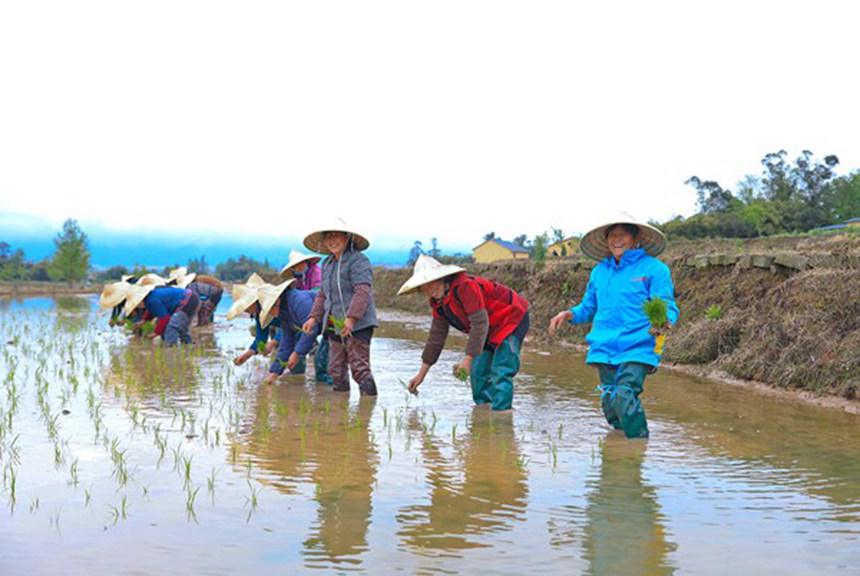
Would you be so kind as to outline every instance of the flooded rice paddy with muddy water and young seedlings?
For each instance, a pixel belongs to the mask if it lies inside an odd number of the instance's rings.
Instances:
[[[631,442],[562,349],[494,414],[462,341],[406,392],[427,321],[394,314],[378,398],[267,386],[227,305],[176,351],[94,297],[0,300],[0,573],[860,572],[857,416],[661,371]]]

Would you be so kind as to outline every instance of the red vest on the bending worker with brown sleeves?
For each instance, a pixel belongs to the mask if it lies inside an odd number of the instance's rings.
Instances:
[[[466,334],[471,330],[469,315],[486,309],[490,318],[487,342],[497,348],[519,326],[529,303],[504,284],[460,272],[452,278],[444,298],[431,299],[430,307],[434,318],[444,318]]]

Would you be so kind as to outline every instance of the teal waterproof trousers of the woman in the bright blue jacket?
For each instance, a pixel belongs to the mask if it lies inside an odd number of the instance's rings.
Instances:
[[[654,368],[639,362],[596,366],[602,390],[600,407],[606,421],[616,430],[624,430],[628,438],[647,438],[648,422],[639,394],[642,393],[645,377]]]

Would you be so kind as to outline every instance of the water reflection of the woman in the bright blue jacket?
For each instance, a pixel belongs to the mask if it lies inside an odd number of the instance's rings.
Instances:
[[[586,510],[590,574],[674,573],[667,555],[675,545],[666,541],[654,488],[642,480],[645,449],[617,434],[606,437]]]

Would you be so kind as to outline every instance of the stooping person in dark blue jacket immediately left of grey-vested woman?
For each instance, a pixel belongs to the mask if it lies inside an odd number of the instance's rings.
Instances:
[[[314,346],[318,330],[305,332],[301,326],[307,322],[316,293],[292,288],[295,280],[277,286],[265,284],[259,289],[260,325],[264,328],[277,317],[281,324],[278,354],[269,367],[267,384],[273,384],[284,369],[290,374],[305,373],[305,356]]]

